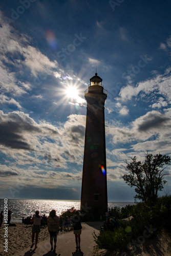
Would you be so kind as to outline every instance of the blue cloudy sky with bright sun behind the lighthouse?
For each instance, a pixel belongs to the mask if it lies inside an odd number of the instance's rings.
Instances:
[[[108,91],[108,199],[134,201],[120,179],[125,159],[170,156],[170,9],[168,0],[1,0],[0,198],[80,200],[84,91],[97,67]]]

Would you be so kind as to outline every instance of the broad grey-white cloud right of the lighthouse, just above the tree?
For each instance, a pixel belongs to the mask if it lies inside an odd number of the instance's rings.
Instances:
[[[135,145],[132,144],[131,147],[136,150],[140,150],[138,145],[142,146],[143,144],[148,146],[147,148],[143,146],[141,148],[142,151],[153,151],[158,146],[161,151],[169,153],[170,128],[170,112],[165,111],[165,114],[161,114],[158,111],[151,111],[137,118],[129,126],[120,125],[119,127],[118,124],[106,123],[106,135],[112,137],[111,142],[114,144],[135,142]]]

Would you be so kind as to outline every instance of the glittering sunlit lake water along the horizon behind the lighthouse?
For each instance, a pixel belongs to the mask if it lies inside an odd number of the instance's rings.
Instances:
[[[33,216],[35,210],[39,210],[40,215],[49,215],[52,209],[56,210],[59,216],[63,211],[80,209],[80,201],[69,200],[39,200],[39,199],[8,199],[8,210],[12,210],[11,222],[22,222],[22,218]],[[132,205],[134,202],[108,202],[108,207],[124,207]],[[0,211],[4,210],[4,199],[0,199]]]

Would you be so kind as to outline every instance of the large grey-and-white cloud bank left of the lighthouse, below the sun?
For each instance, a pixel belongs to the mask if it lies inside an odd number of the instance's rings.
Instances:
[[[71,115],[64,124],[35,122],[28,114],[0,111],[0,150],[11,164],[67,168],[82,164],[86,117]],[[51,141],[49,141],[51,139]],[[10,164],[10,163],[9,163]]]

